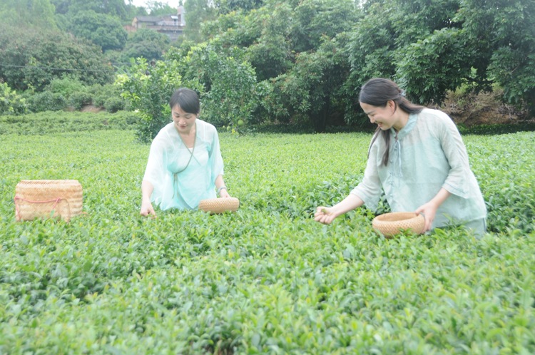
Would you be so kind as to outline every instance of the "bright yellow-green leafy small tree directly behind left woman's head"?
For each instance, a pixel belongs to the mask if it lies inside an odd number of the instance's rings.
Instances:
[[[183,80],[178,61],[147,63],[145,58],[133,62],[128,73],[117,76],[121,96],[138,113],[138,140],[150,143],[163,126],[170,122],[169,99],[173,91],[188,87],[201,91],[196,81]]]

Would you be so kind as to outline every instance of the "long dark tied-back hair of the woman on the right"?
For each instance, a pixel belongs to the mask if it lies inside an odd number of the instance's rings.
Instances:
[[[387,107],[388,101],[394,101],[394,111],[399,107],[407,113],[419,113],[424,109],[424,106],[415,105],[405,98],[405,93],[397,86],[394,81],[384,78],[373,78],[367,81],[362,88],[360,88],[359,101],[361,103],[367,103],[376,107]],[[390,148],[390,132],[389,130],[382,130],[377,127],[368,149],[368,155],[377,136],[382,135],[386,150],[382,156],[382,163],[388,165],[389,148]]]

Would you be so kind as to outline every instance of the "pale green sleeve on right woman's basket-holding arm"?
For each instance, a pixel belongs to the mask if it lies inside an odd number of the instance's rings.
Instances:
[[[453,120],[444,114],[441,122],[440,144],[449,163],[449,173],[442,187],[452,195],[467,198],[471,171],[467,148]]]

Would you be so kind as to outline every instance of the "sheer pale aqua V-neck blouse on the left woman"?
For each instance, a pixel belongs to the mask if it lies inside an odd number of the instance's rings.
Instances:
[[[218,175],[223,175],[218,132],[213,125],[197,118],[193,156],[174,123],[169,123],[153,140],[143,180],[153,185],[151,201],[162,210],[193,210],[200,200],[216,197]]]

